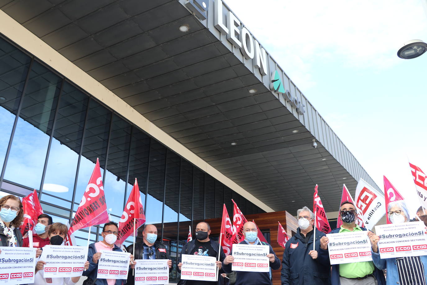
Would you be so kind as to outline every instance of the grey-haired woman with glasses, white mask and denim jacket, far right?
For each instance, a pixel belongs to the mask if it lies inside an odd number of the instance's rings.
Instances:
[[[387,215],[392,223],[409,222],[409,212],[404,200],[389,203]],[[381,259],[378,252],[379,237],[370,232],[372,261],[379,269],[387,269],[386,285],[426,284],[427,256],[409,256]]]

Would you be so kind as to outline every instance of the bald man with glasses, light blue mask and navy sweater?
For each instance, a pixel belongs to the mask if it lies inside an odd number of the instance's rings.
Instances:
[[[267,257],[270,261],[270,267],[272,270],[280,268],[280,260],[273,251],[271,245],[261,242],[258,239],[257,225],[252,222],[246,222],[243,225],[243,233],[245,240],[240,244],[256,244],[256,245],[268,245],[270,250]],[[229,255],[224,259],[224,271],[231,273],[231,265],[234,261],[234,257]],[[270,273],[269,272],[249,272],[249,271],[236,271],[236,283],[235,285],[271,285]]]

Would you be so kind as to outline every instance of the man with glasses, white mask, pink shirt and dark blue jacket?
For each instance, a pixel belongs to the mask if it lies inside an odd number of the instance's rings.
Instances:
[[[119,228],[117,223],[108,222],[102,228],[101,236],[102,241],[94,242],[89,244],[88,250],[88,261],[89,268],[83,271],[83,276],[88,276],[88,279],[83,282],[83,284],[89,285],[122,285],[122,279],[97,279],[98,275],[98,260],[101,258],[102,250],[111,250],[111,251],[122,251],[120,247],[117,247],[114,243],[117,240]],[[133,255],[130,256],[130,267],[135,268],[135,262],[133,261]]]

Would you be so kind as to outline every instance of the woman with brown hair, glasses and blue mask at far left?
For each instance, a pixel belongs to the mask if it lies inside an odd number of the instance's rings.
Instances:
[[[0,199],[0,246],[21,247],[22,235],[18,229],[23,220],[21,200],[15,195]]]

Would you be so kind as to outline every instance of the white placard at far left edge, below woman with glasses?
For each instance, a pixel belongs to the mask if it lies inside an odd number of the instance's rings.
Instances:
[[[34,283],[35,248],[0,247],[0,284]]]

